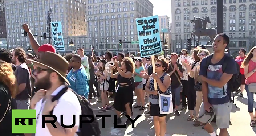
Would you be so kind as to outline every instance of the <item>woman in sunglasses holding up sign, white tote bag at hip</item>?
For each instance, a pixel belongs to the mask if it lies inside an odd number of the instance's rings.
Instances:
[[[155,73],[149,77],[149,82],[145,86],[145,91],[149,94],[150,115],[154,119],[154,128],[156,136],[164,136],[166,133],[165,116],[161,114],[162,111],[169,111],[172,108],[171,103],[171,78],[166,73],[168,69],[168,62],[165,59],[157,59],[155,62]],[[157,90],[154,88],[154,80],[157,81]],[[159,94],[170,95],[169,99],[166,97],[159,102]],[[160,104],[161,103],[161,104]],[[163,105],[160,107],[160,105]],[[164,110],[163,110],[164,109]]]

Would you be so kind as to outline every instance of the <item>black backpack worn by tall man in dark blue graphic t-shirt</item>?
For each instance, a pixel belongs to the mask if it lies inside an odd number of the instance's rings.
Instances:
[[[210,54],[210,57],[208,57],[206,59],[206,68],[208,69],[208,66],[210,65],[211,63],[211,59],[212,59],[212,56],[213,56],[213,53]],[[229,57],[228,55],[224,56],[224,63],[222,64],[222,71],[225,71],[225,69],[227,68],[227,65],[228,63],[225,62],[228,58],[230,58],[230,60],[233,60],[233,58]],[[230,92],[230,94],[233,95],[233,100],[231,99],[231,102],[233,102],[236,106],[236,103],[235,103],[235,96],[234,96],[234,93],[235,91],[238,90],[238,88],[241,86],[241,82],[240,82],[240,78],[239,78],[239,71],[240,71],[240,66],[236,63],[236,70],[237,70],[237,73],[236,74],[233,74],[231,79],[227,82],[227,90]],[[224,92],[224,87],[223,87],[223,94],[225,94]],[[237,108],[237,106],[236,106]]]

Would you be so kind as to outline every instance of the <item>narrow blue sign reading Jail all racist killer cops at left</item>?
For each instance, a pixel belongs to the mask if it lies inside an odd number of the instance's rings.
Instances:
[[[51,22],[53,45],[57,51],[65,51],[61,22]]]

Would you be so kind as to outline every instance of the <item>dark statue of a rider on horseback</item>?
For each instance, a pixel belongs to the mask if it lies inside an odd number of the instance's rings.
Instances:
[[[208,41],[206,45],[212,42],[216,36],[216,28],[206,28],[207,23],[211,23],[209,16],[205,18],[194,17],[194,20],[190,20],[191,23],[195,23],[195,31],[191,32],[191,38],[197,36],[200,41],[201,36],[209,36],[211,41]]]

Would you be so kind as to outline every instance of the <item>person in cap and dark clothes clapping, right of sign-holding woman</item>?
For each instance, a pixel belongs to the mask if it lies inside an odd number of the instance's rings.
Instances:
[[[180,77],[183,75],[182,65],[177,63],[178,55],[176,53],[171,54],[171,63],[169,69],[166,71],[171,77],[171,94],[173,109],[175,109],[175,115],[179,116],[178,107],[180,105],[180,91],[182,90]]]

